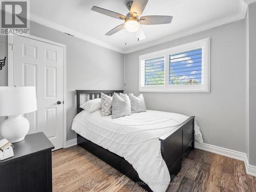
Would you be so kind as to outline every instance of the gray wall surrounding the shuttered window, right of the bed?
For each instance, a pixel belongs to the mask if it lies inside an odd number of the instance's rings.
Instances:
[[[143,93],[147,109],[195,115],[204,142],[245,152],[245,21],[126,54],[125,91],[138,92],[141,54],[211,37],[210,93]]]

